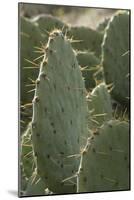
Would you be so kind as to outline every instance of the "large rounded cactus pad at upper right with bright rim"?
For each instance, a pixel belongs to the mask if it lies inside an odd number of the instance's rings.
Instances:
[[[112,96],[121,104],[129,99],[129,24],[128,12],[112,17],[105,30],[102,44],[102,65],[107,84],[113,83]]]

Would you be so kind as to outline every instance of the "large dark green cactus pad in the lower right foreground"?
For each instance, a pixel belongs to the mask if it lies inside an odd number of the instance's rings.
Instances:
[[[81,153],[77,192],[128,190],[129,124],[106,122]]]

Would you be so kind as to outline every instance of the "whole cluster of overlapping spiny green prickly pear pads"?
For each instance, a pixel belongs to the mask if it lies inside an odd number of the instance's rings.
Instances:
[[[129,18],[21,18],[20,196],[130,189]]]

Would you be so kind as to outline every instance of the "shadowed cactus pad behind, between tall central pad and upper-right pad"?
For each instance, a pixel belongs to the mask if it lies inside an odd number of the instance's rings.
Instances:
[[[87,90],[94,88],[96,85],[93,74],[98,70],[99,59],[92,52],[78,52],[77,60],[81,66],[82,76],[85,80]]]

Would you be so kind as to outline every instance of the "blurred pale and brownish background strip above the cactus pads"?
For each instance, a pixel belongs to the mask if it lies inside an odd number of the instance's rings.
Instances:
[[[44,4],[20,4],[20,15],[28,18],[38,14],[50,14],[60,18],[71,26],[89,26],[96,29],[99,23],[109,18],[117,10],[101,8],[85,8],[73,6],[44,5]]]

